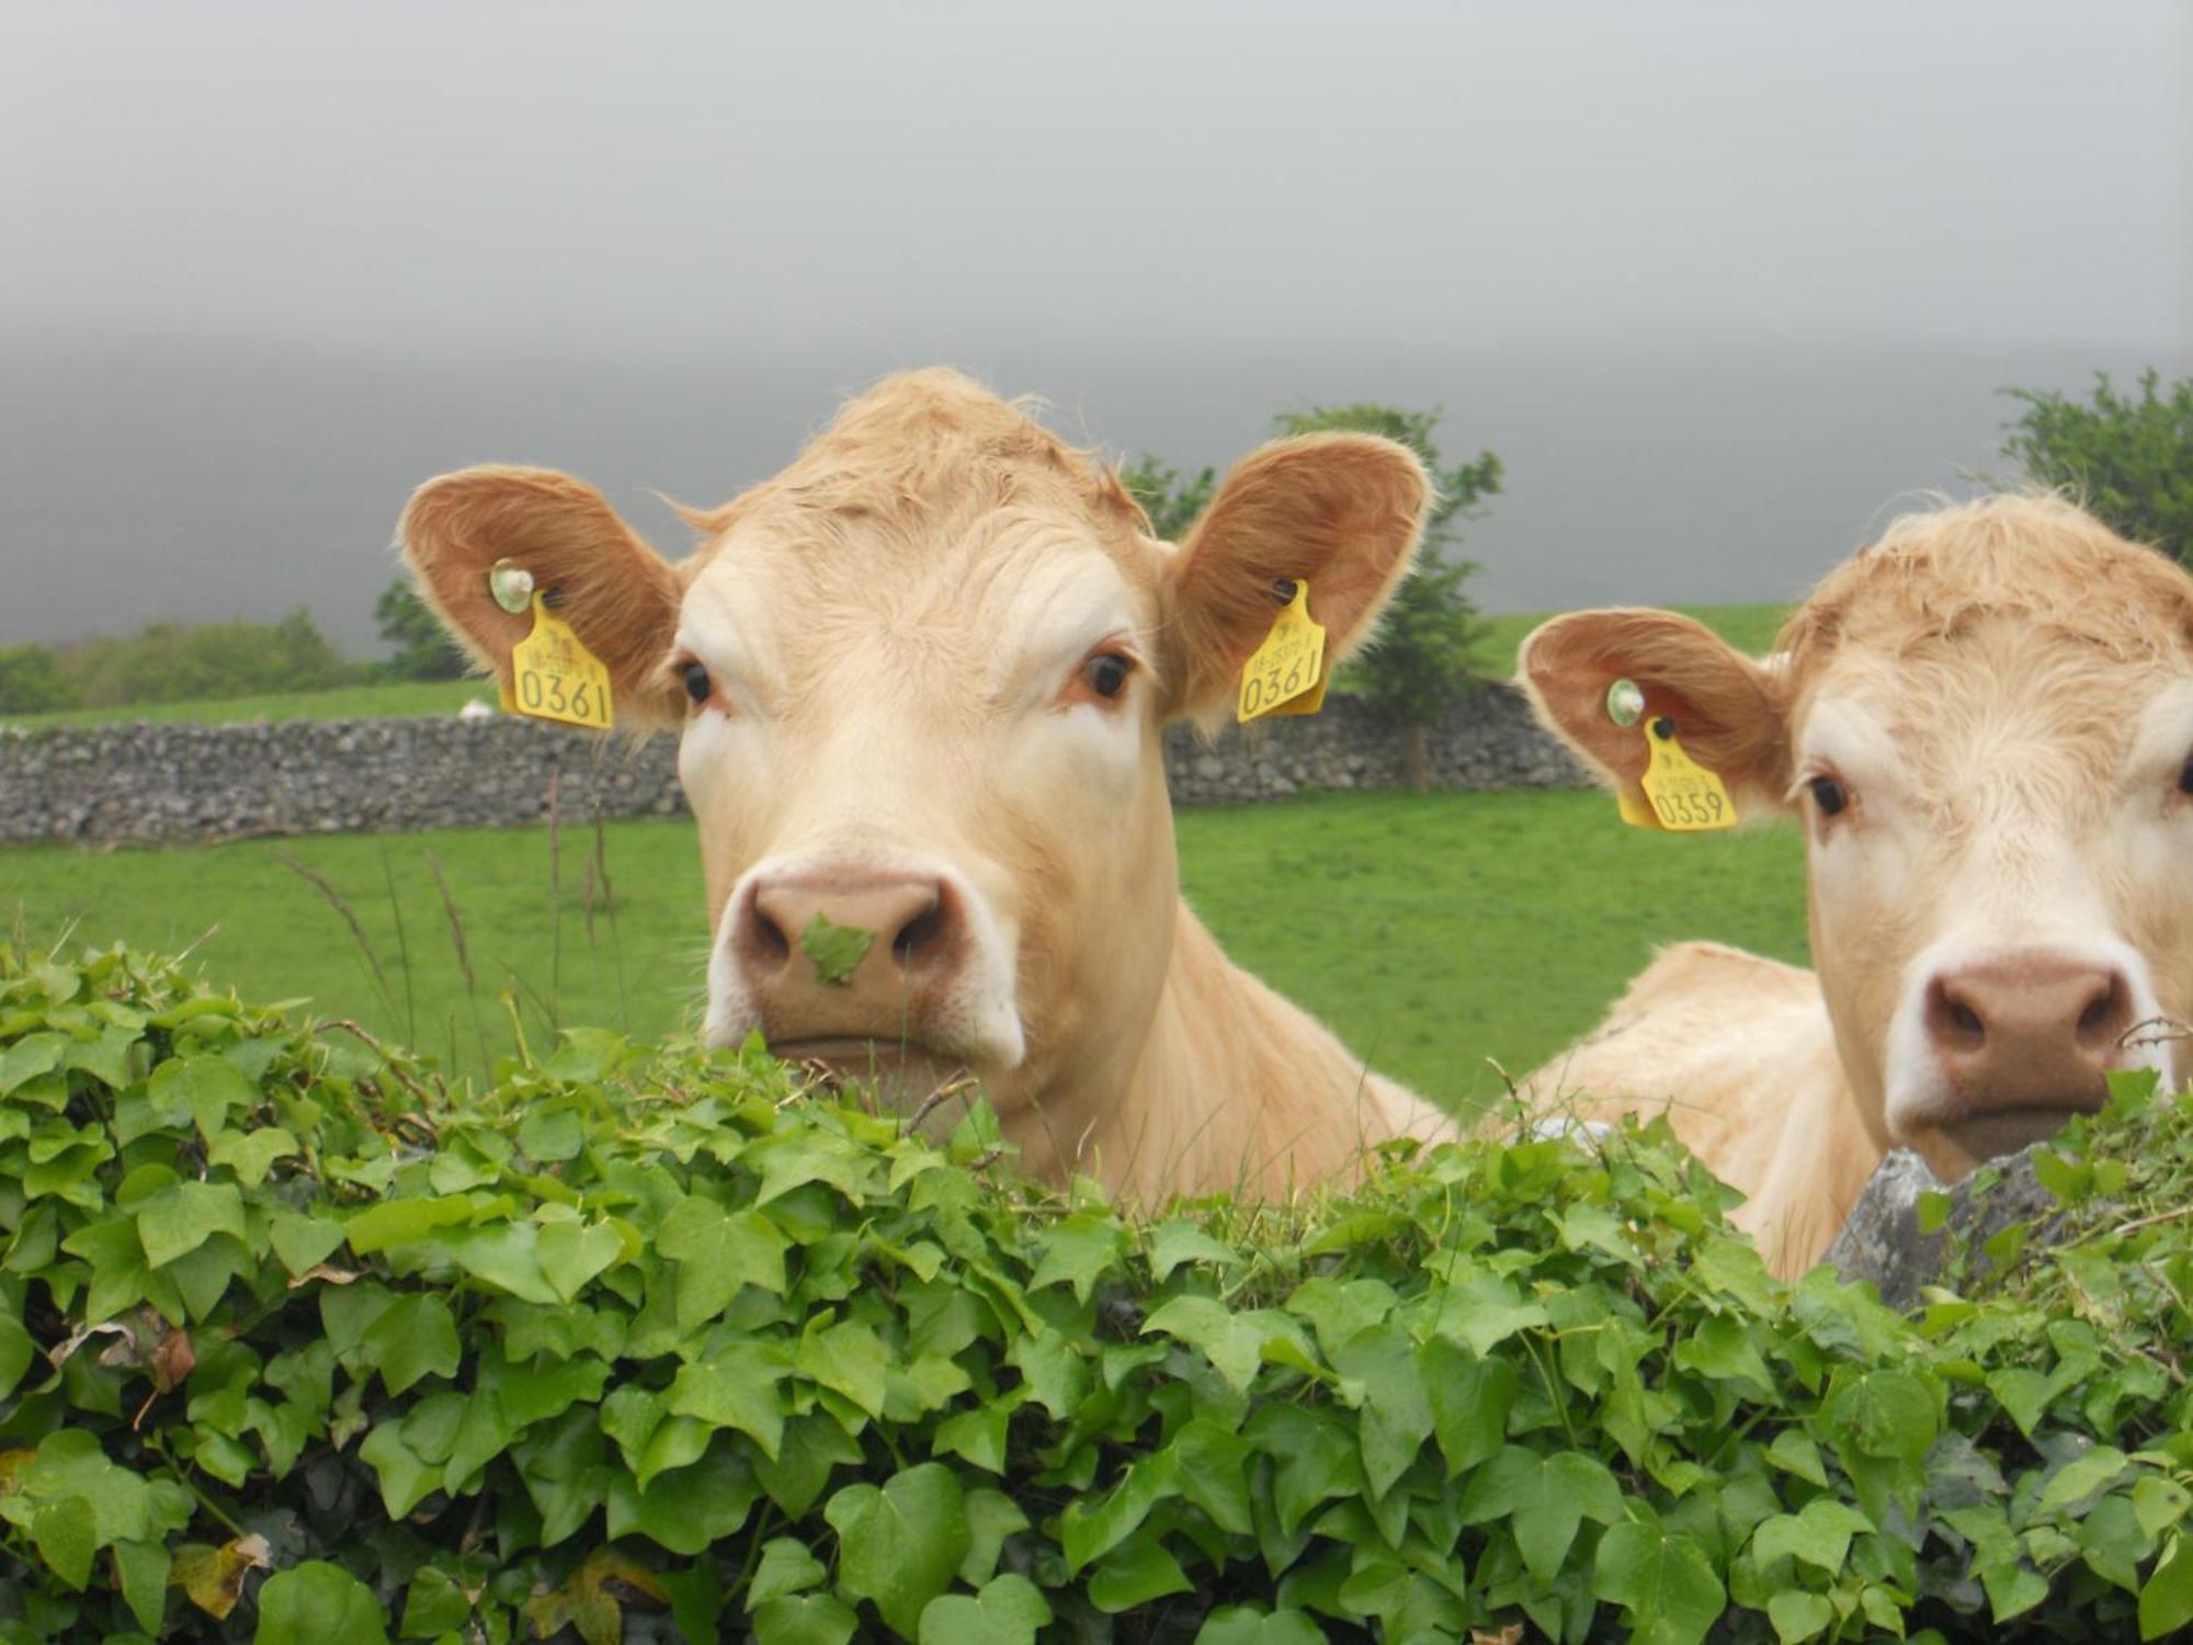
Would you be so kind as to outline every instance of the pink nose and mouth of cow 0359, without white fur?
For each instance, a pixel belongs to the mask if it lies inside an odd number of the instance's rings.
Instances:
[[[2123,972],[2046,950],[1941,972],[1925,994],[1925,1035],[1950,1084],[1943,1130],[1974,1158],[1993,1158],[2101,1108],[2132,1011]]]

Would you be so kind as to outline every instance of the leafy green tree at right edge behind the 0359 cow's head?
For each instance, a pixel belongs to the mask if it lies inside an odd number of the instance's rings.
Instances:
[[[2162,390],[2154,366],[2125,395],[2094,373],[2088,404],[2011,388],[2024,415],[2007,426],[2004,454],[2042,485],[2079,496],[2114,531],[2193,561],[2193,377]]]

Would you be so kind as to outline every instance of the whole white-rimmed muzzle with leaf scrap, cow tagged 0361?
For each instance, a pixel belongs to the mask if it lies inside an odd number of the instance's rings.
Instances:
[[[941,869],[765,862],[732,890],[708,983],[715,1044],[759,1029],[893,1105],[1024,1057],[1007,945]]]

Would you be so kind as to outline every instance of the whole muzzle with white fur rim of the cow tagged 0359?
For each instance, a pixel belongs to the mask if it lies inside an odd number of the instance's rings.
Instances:
[[[2000,948],[1939,963],[1906,1011],[1917,1066],[1901,1092],[1890,1084],[1888,1121],[1936,1173],[2055,1136],[2107,1101],[2112,1070],[2154,1059],[2134,1044],[2154,1000],[2129,952]]]

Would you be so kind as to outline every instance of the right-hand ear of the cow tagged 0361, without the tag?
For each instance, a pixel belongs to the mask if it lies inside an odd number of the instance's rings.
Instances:
[[[1338,665],[1408,572],[1430,507],[1423,463],[1373,434],[1309,434],[1243,458],[1167,568],[1169,713],[1232,702],[1241,665],[1272,632],[1279,583],[1309,583],[1327,667]]]

